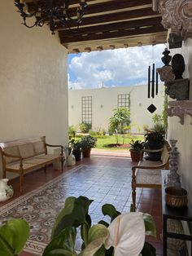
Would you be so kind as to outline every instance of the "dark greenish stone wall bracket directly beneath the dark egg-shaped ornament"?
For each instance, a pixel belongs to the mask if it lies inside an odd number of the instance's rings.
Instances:
[[[174,81],[165,82],[165,93],[172,99],[186,100],[189,99],[190,80],[177,79]]]

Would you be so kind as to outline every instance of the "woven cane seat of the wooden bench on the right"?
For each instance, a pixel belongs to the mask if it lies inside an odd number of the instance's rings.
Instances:
[[[136,183],[146,184],[146,185],[156,185],[161,186],[161,174],[160,170],[150,170],[150,169],[137,169],[136,173]]]

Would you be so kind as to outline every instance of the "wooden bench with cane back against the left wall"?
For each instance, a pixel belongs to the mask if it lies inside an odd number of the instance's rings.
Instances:
[[[60,148],[60,153],[50,154],[47,147]],[[46,136],[31,139],[17,139],[0,143],[2,157],[2,178],[6,178],[7,172],[20,174],[20,192],[24,189],[24,173],[46,166],[54,161],[63,162],[65,159],[63,146],[46,143]]]

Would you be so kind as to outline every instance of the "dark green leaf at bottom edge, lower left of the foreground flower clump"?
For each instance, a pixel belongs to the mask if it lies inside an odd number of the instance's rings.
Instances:
[[[46,246],[43,256],[74,256],[76,227],[67,227]]]

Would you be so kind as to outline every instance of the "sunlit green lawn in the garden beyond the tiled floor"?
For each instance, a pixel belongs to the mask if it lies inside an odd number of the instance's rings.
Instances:
[[[124,139],[124,143],[128,144],[130,143],[131,140],[143,140],[143,135],[125,135],[125,139]],[[110,150],[124,150],[126,148],[109,148],[107,147],[108,144],[111,143],[116,143],[116,136],[112,135],[112,136],[106,136],[106,138],[98,138],[97,140],[97,146],[96,148],[98,149],[110,149]],[[119,135],[119,143],[123,143],[123,136]]]

